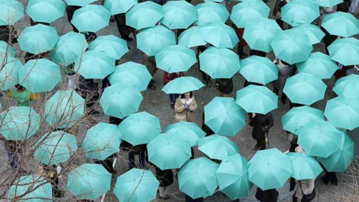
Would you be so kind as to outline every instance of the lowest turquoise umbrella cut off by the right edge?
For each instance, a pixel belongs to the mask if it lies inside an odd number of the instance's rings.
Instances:
[[[324,116],[337,128],[353,130],[359,126],[358,103],[359,98],[339,95],[327,101]]]

